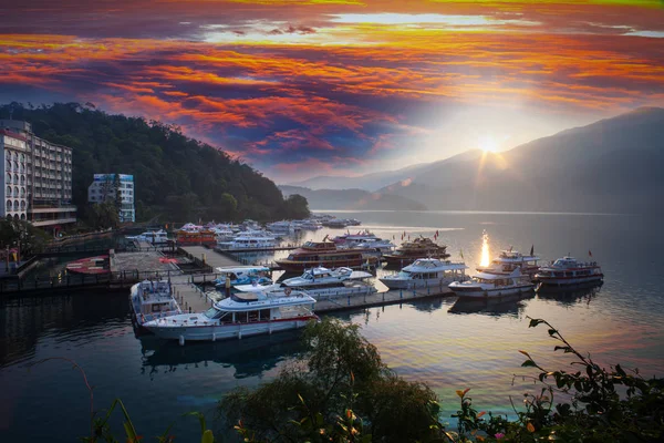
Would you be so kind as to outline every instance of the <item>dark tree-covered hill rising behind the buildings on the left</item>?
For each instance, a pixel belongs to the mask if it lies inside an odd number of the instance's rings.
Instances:
[[[178,127],[110,115],[93,105],[0,106],[0,119],[32,123],[33,132],[73,148],[73,199],[84,213],[93,174],[133,174],[137,220],[259,220],[309,214],[303,198],[284,200],[274,183]]]

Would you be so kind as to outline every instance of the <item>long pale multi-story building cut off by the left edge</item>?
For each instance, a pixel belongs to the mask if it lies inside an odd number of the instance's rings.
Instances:
[[[28,122],[0,120],[0,215],[56,228],[76,222],[72,150],[32,133]]]

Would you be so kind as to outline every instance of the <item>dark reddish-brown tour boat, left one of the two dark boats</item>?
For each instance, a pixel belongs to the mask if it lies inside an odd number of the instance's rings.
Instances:
[[[303,272],[315,266],[360,268],[377,262],[370,253],[364,249],[340,249],[325,238],[323,241],[307,241],[287,258],[276,261],[287,272]]]

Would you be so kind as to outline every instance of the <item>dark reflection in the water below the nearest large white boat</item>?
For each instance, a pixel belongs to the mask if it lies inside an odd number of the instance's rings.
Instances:
[[[172,372],[176,368],[194,370],[199,365],[232,367],[236,379],[256,377],[302,351],[301,331],[274,336],[247,337],[237,341],[196,342],[180,347],[155,336],[141,337],[143,371]],[[200,399],[199,399],[200,400]]]

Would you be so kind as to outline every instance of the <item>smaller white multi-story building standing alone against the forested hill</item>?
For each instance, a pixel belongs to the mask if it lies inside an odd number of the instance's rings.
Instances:
[[[120,186],[120,187],[118,187]],[[134,209],[134,176],[127,174],[95,174],[94,181],[87,187],[87,202],[115,202],[121,195],[120,222],[136,222]]]

